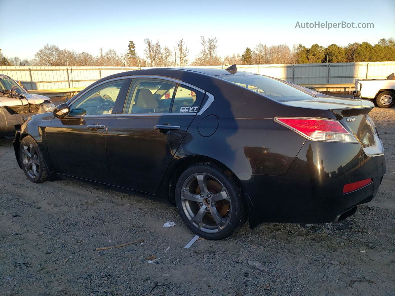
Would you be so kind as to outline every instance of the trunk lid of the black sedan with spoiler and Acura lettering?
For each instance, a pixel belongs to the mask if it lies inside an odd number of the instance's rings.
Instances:
[[[362,146],[374,144],[376,130],[368,113],[373,109],[371,101],[331,97],[319,94],[310,100],[282,101],[290,106],[331,111],[337,119],[361,142]]]

